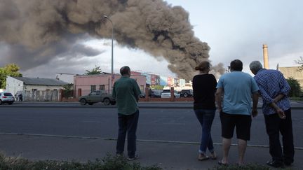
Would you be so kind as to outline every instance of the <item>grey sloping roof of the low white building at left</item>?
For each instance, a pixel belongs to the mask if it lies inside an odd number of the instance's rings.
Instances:
[[[13,77],[25,83],[25,85],[67,85],[68,83],[55,78],[25,78]]]

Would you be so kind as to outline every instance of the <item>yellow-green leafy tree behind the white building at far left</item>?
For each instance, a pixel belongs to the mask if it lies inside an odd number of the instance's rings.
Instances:
[[[22,77],[19,70],[20,67],[17,64],[6,64],[6,66],[0,67],[0,88],[6,88],[6,76]]]

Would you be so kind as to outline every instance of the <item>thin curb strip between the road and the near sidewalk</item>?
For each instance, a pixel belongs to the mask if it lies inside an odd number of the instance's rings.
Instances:
[[[55,134],[20,134],[20,133],[4,133],[0,132],[0,135],[24,135],[24,136],[43,136],[43,137],[57,137],[57,138],[71,138],[71,139],[102,139],[107,141],[116,141],[115,138],[102,138],[102,137],[89,137],[89,136],[66,136],[66,135],[55,135]],[[190,141],[162,141],[162,140],[147,140],[137,139],[138,142],[151,142],[151,143],[177,143],[177,144],[188,144],[188,145],[200,145],[199,142]],[[215,146],[222,146],[222,143],[213,143]],[[238,146],[238,144],[231,144],[231,146]],[[255,148],[269,148],[269,146],[262,145],[247,145],[248,147]],[[295,147],[295,150],[303,150],[303,147]]]

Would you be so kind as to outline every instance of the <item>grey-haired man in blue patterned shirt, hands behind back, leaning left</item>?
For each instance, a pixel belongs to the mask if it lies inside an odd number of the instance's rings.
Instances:
[[[290,86],[280,71],[263,69],[259,61],[250,63],[250,71],[255,74],[254,78],[263,99],[262,111],[269,135],[269,153],[272,157],[267,164],[271,167],[284,167],[284,164],[290,166],[295,155],[291,108],[288,99]]]

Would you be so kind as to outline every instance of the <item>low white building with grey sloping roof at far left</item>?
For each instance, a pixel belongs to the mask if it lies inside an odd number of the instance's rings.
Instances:
[[[24,94],[25,91],[60,90],[67,84],[55,78],[6,77],[6,91],[13,95]]]

